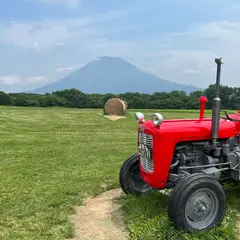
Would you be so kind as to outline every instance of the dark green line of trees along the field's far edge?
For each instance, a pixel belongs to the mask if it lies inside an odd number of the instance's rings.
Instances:
[[[208,98],[207,109],[212,108],[215,85],[204,91],[187,95],[184,91],[156,92],[142,94],[127,92],[122,94],[85,94],[76,89],[67,89],[46,94],[4,93],[0,92],[0,105],[24,107],[66,107],[66,108],[103,108],[110,98],[117,97],[128,103],[128,108],[138,109],[198,109],[201,95]],[[222,108],[240,108],[240,88],[221,86]]]

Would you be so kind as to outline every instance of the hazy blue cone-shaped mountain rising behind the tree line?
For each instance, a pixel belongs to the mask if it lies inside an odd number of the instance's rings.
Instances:
[[[119,57],[101,57],[91,61],[70,75],[31,93],[51,93],[76,88],[84,93],[125,93],[125,92],[170,92],[183,90],[187,94],[200,90],[192,85],[184,85],[161,79],[146,73]]]

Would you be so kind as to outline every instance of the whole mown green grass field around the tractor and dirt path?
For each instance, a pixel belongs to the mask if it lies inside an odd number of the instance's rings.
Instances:
[[[119,187],[120,166],[137,149],[135,111],[113,122],[102,110],[1,107],[0,239],[73,237],[74,206],[87,195]],[[150,118],[154,110],[143,112]],[[165,118],[198,116],[161,112]],[[132,239],[235,239],[240,188],[226,191],[223,226],[194,236],[180,236],[168,222],[167,197],[161,193],[139,199],[123,195],[121,203]]]

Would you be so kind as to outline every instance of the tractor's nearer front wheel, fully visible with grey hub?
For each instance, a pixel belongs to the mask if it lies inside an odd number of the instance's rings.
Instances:
[[[216,179],[206,174],[194,174],[173,189],[168,216],[184,231],[205,231],[222,222],[226,205],[224,190]]]

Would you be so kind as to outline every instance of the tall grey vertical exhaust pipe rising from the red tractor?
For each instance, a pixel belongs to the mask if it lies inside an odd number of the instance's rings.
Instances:
[[[221,75],[221,65],[223,64],[222,58],[215,58],[215,63],[217,64],[217,77],[216,77],[216,96],[213,99],[213,108],[212,108],[212,144],[213,144],[213,148],[217,147],[219,121],[220,121],[220,109],[221,109],[220,75]]]

